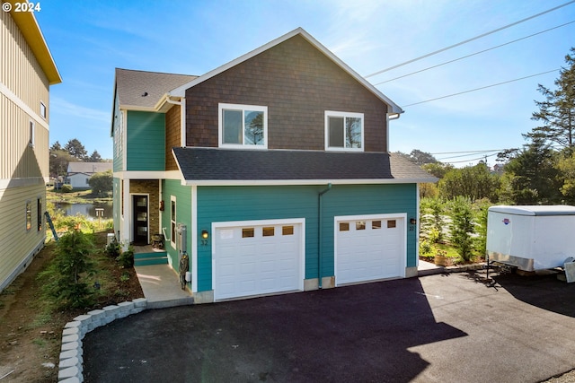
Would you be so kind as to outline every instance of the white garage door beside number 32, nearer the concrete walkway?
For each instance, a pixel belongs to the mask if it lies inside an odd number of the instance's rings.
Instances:
[[[303,290],[302,220],[214,225],[215,300]]]

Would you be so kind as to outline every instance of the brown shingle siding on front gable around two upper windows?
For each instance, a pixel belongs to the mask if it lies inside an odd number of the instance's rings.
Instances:
[[[364,113],[366,152],[385,152],[387,105],[295,36],[186,91],[187,144],[217,147],[218,103],[268,107],[270,149],[324,149],[324,111]]]

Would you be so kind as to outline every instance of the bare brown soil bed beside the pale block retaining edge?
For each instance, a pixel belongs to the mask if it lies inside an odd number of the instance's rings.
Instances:
[[[94,235],[103,248],[106,233]],[[134,268],[122,269],[111,258],[98,257],[105,275],[102,295],[91,308],[57,310],[40,298],[37,275],[55,257],[55,244],[47,244],[31,265],[0,294],[0,382],[56,382],[62,329],[72,318],[92,309],[144,297]]]

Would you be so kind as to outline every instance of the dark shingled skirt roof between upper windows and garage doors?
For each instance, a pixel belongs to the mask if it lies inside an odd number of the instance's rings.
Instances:
[[[173,148],[185,185],[315,185],[436,182],[386,152]]]

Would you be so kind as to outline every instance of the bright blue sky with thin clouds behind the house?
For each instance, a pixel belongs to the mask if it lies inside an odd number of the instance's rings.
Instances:
[[[367,76],[569,0],[237,0],[41,2],[36,13],[63,83],[50,89],[50,144],[77,138],[111,158],[114,68],[205,74],[302,27]],[[390,126],[392,152],[471,152],[520,147],[536,123],[541,83],[565,66],[575,23],[391,82],[394,77],[575,21],[575,3],[383,74],[371,83],[405,113]],[[381,84],[378,84],[381,83]],[[492,153],[488,153],[492,154]],[[456,166],[482,155],[436,154]],[[494,164],[495,156],[487,158]]]

